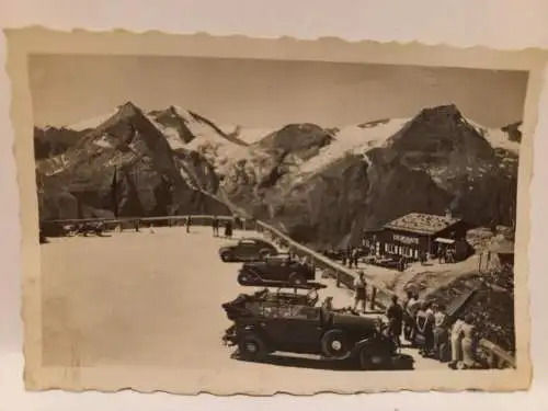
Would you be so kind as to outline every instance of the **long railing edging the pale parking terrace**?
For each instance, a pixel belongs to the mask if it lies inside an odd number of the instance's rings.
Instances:
[[[192,225],[193,226],[210,226],[215,216],[210,215],[193,215]],[[220,221],[233,220],[230,216],[217,216]],[[62,226],[70,224],[80,222],[99,222],[102,221],[107,228],[119,227],[122,229],[135,229],[138,230],[139,227],[148,226],[176,226],[185,221],[187,216],[165,216],[165,217],[125,217],[117,219],[104,219],[104,218],[87,218],[87,219],[65,219],[65,220],[48,220],[42,221],[41,226],[47,228],[48,226]],[[145,224],[145,226],[142,226]],[[354,279],[356,277],[356,272],[339,264],[338,262],[328,259],[327,256],[294,241],[282,231],[275,229],[274,227],[267,225],[266,222],[253,219],[242,219],[242,227],[247,231],[256,231],[265,237],[270,238],[278,247],[288,250],[299,256],[307,256],[310,262],[323,270],[323,272],[331,278],[334,278],[336,286],[344,286],[347,289],[353,289]],[[367,274],[366,274],[367,276]],[[367,284],[372,290],[369,297],[370,309],[384,310],[388,306],[393,293],[386,288],[386,286],[375,282],[373,278],[367,278]],[[478,350],[480,353],[487,357],[489,366],[491,368],[515,368],[515,358],[504,351],[499,345],[488,341],[480,340]]]

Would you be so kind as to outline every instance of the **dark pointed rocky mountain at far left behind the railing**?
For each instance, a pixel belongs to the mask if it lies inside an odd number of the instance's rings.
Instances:
[[[147,114],[126,103],[66,152],[38,162],[41,218],[228,214],[194,184],[204,168],[199,159],[191,155],[183,169],[184,156],[174,155]]]

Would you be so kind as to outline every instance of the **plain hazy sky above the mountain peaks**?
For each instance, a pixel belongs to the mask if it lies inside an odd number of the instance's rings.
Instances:
[[[37,126],[68,126],[132,101],[247,127],[340,127],[454,103],[501,127],[522,119],[527,85],[518,71],[161,56],[35,55],[28,70]]]

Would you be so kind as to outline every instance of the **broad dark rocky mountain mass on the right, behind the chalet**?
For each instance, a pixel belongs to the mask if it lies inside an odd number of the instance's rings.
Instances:
[[[450,208],[478,225],[510,225],[514,218],[517,161],[493,149],[455,106],[424,110],[391,136],[366,137],[308,173],[299,172],[299,161],[307,170],[307,159],[329,152],[336,135],[315,139],[305,157],[299,150],[252,156],[233,165],[224,191],[259,218],[316,247],[355,243],[362,229],[411,212]],[[260,167],[248,165],[253,161]]]

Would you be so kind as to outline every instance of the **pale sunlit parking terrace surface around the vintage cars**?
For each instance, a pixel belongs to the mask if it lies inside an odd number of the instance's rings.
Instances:
[[[239,264],[218,259],[226,241],[195,227],[191,233],[161,228],[44,244],[44,364],[68,366],[77,358],[89,367],[194,370],[202,379],[221,378],[220,370],[244,373],[282,390],[290,390],[295,378],[310,387],[318,387],[320,378],[326,389],[363,388],[359,372],[329,369],[317,361],[278,358],[264,365],[230,357],[231,349],[220,343],[230,326],[220,305],[250,289],[236,282]],[[320,298],[332,295],[335,307],[349,305],[349,293],[326,282]],[[420,369],[446,369],[416,361]],[[307,383],[307,377],[313,378]]]

